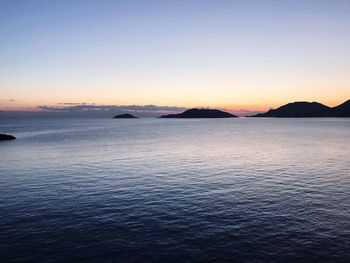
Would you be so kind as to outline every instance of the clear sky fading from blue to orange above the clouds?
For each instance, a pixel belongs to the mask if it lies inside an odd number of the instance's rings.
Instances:
[[[350,99],[349,0],[2,0],[0,36],[0,109]]]

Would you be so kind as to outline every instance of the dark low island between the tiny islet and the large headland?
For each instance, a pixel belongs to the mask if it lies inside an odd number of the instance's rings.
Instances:
[[[160,118],[236,118],[231,113],[215,109],[189,109],[178,114],[168,114]]]

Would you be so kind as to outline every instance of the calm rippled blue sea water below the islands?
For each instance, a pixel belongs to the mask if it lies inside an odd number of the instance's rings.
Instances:
[[[1,120],[0,261],[350,261],[350,119]]]

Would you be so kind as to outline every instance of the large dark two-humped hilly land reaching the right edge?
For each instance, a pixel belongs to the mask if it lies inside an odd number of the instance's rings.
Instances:
[[[318,102],[294,102],[248,117],[312,118],[350,117],[350,100],[336,107],[328,107]]]

